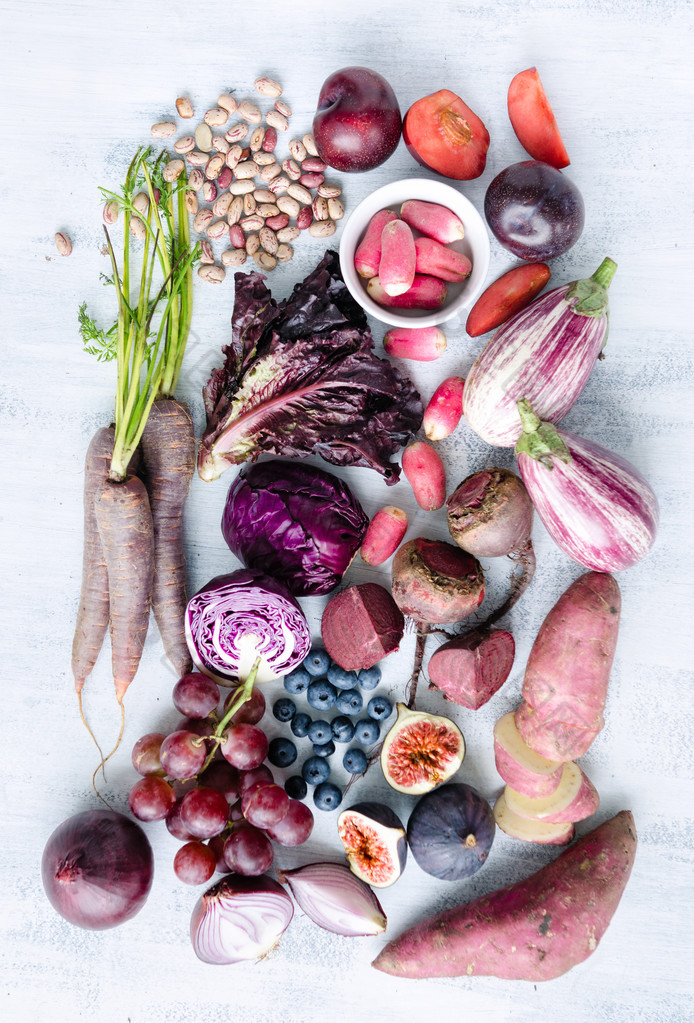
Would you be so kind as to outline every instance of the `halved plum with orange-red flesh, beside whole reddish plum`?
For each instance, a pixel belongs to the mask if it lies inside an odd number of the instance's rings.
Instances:
[[[486,165],[489,132],[449,89],[413,103],[402,122],[402,138],[419,164],[446,178],[469,181]]]

